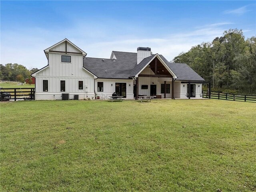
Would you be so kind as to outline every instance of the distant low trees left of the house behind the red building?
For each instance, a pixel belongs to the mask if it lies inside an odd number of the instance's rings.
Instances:
[[[0,77],[7,81],[25,82],[26,78],[30,78],[30,74],[36,72],[38,68],[31,68],[28,70],[25,66],[17,63],[0,64]]]

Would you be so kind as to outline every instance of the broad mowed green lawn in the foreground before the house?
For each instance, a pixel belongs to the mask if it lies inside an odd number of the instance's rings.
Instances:
[[[256,190],[256,104],[1,102],[1,191]]]

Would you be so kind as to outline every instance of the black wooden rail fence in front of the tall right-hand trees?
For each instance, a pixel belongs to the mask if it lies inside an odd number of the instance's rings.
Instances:
[[[202,91],[203,98],[230,100],[230,101],[244,101],[244,102],[256,102],[256,95],[244,95],[244,94],[231,94],[223,92]],[[209,97],[210,96],[210,97]]]

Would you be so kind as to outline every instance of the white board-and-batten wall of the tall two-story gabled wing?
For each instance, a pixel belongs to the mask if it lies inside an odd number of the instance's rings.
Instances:
[[[65,51],[65,42],[51,50]],[[69,43],[67,51],[80,52]],[[61,62],[62,55],[71,56],[71,63]],[[74,94],[78,94],[79,99],[94,96],[94,76],[82,67],[82,54],[49,52],[48,64],[48,67],[33,75],[36,77],[36,100],[61,100],[62,93],[69,93],[70,99],[74,98]],[[48,92],[43,92],[43,80],[48,80]],[[61,80],[65,80],[65,92],[60,92]],[[78,81],[83,81],[83,90],[78,90]]]

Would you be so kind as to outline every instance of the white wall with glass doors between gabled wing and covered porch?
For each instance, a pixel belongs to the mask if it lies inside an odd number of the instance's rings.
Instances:
[[[98,92],[98,82],[103,82],[103,92]],[[126,83],[126,99],[134,98],[132,79],[96,79],[95,92],[98,96],[100,96],[100,94],[107,94],[108,97],[112,96],[112,94],[116,91],[116,83]]]

